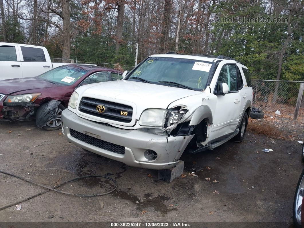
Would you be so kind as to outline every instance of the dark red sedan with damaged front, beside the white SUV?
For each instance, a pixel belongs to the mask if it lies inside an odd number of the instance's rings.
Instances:
[[[92,65],[63,65],[36,77],[0,81],[0,120],[36,119],[45,130],[61,128],[61,111],[74,89],[122,79],[120,72]]]

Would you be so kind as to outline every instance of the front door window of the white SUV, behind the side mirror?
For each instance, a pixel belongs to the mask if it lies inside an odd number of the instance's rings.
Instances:
[[[235,64],[224,65],[219,73],[219,82],[227,83],[230,91],[237,91],[237,70]]]

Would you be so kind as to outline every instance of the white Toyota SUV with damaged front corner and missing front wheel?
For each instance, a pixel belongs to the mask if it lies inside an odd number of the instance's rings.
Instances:
[[[185,150],[243,140],[252,88],[240,62],[158,54],[123,76],[74,91],[62,112],[68,142],[129,166],[166,169]]]

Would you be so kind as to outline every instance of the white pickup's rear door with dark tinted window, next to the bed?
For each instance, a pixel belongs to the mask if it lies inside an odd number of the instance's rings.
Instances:
[[[23,78],[35,77],[52,69],[47,50],[44,47],[18,46]]]

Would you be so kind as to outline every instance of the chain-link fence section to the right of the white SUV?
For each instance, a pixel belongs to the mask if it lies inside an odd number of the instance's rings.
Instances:
[[[252,80],[253,105],[254,107],[263,105],[265,107],[263,111],[272,115],[279,110],[282,115],[293,116],[301,83],[299,81]],[[303,95],[299,117],[304,117]]]

